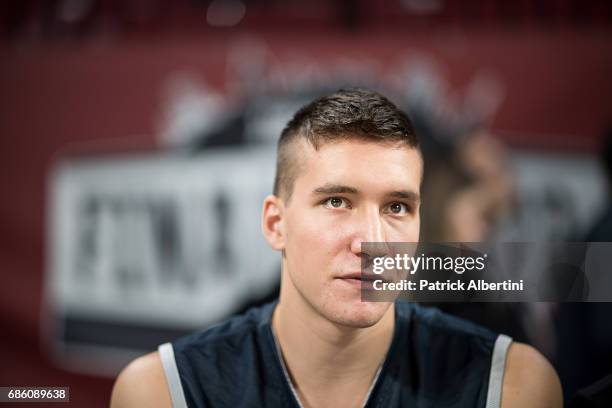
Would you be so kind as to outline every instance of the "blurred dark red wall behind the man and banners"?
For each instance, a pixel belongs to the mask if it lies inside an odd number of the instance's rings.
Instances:
[[[0,384],[68,385],[77,406],[107,405],[113,380],[60,370],[41,351],[48,172],[73,143],[156,148],[171,73],[188,69],[239,101],[227,53],[248,35],[278,65],[367,59],[385,72],[403,54],[426,54],[456,89],[493,72],[505,99],[492,129],[510,145],[595,151],[612,118],[604,1],[420,2],[439,5],[425,13],[401,2],[259,1],[245,2],[234,27],[207,24],[207,1],[85,2],[92,8],[72,20],[61,3],[0,6]]]

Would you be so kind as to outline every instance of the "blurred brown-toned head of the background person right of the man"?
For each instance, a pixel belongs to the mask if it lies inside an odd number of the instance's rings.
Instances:
[[[513,179],[503,145],[484,131],[431,157],[423,194],[423,239],[483,242],[514,202]]]

